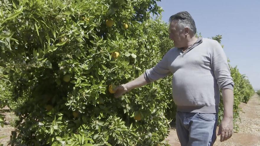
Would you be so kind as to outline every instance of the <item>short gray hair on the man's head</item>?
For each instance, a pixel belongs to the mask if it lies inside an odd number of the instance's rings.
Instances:
[[[169,18],[169,22],[172,22],[173,20],[178,20],[179,25],[182,27],[188,27],[194,35],[197,33],[194,19],[189,12],[182,11],[174,14]]]

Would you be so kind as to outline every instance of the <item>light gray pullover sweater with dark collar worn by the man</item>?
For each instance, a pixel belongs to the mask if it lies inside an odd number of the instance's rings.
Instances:
[[[170,49],[155,67],[146,70],[144,78],[150,83],[170,73],[177,111],[216,113],[220,89],[234,87],[221,45],[207,38],[199,38],[184,52],[181,48]]]

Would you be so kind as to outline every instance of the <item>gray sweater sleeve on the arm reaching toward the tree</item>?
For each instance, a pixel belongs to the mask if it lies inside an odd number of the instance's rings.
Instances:
[[[155,65],[153,68],[146,70],[146,72],[144,73],[144,78],[147,81],[147,83],[157,81],[160,78],[164,78],[165,76],[168,76],[170,74],[167,61],[167,54],[168,53],[166,53],[163,56],[163,59],[160,60],[160,62],[157,63],[157,65]]]

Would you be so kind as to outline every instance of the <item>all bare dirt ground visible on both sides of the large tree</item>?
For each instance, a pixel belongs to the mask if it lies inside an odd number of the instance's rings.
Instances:
[[[220,142],[218,136],[214,146],[260,146],[260,97],[255,94],[247,104],[241,103],[240,106],[242,108],[241,122],[238,123],[240,130],[225,142]],[[6,119],[4,127],[0,126],[0,146],[1,144],[7,146],[14,130],[10,125],[12,114],[8,108],[0,109],[0,113],[5,115]],[[171,146],[181,146],[175,129],[170,129],[166,140]]]

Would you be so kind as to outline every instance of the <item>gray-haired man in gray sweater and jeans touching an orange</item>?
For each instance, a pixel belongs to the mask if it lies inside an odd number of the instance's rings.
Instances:
[[[115,97],[173,73],[176,131],[181,145],[209,146],[216,140],[219,91],[222,89],[224,117],[218,135],[221,134],[221,142],[225,141],[233,134],[234,99],[234,82],[227,57],[217,41],[195,37],[195,22],[188,12],[172,15],[169,22],[169,37],[175,47],[155,67],[118,86]]]

